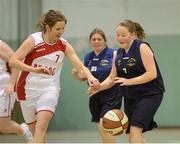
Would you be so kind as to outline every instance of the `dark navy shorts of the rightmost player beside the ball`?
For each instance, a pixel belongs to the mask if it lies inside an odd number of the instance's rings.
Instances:
[[[143,128],[143,132],[157,127],[154,115],[161,104],[162,98],[163,94],[157,94],[135,100],[125,99],[124,110],[129,119],[129,127],[126,132],[129,133],[130,126]]]

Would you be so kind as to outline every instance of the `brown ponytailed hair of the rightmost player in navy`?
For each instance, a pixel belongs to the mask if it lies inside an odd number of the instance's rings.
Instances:
[[[143,27],[137,22],[133,22],[127,19],[121,22],[118,26],[126,27],[130,33],[135,33],[139,40],[143,40],[146,37],[146,33],[144,32]]]

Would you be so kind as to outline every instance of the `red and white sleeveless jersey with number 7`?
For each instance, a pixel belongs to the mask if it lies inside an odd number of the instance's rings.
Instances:
[[[66,49],[66,40],[59,38],[54,44],[48,44],[43,39],[42,32],[33,33],[34,48],[24,59],[24,63],[33,67],[47,67],[52,75],[37,74],[22,71],[17,83],[19,100],[31,99],[38,91],[59,90],[60,73]]]

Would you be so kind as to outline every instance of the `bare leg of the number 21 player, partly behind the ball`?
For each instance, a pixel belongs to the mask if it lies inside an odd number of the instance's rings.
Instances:
[[[116,143],[115,137],[103,130],[102,119],[100,119],[100,122],[97,123],[97,127],[103,143]]]

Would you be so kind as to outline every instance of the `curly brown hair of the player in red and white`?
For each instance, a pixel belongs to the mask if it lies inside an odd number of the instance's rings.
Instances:
[[[40,17],[36,30],[46,31],[46,25],[52,28],[58,21],[65,21],[65,24],[67,23],[67,19],[63,13],[60,11],[49,10]]]

